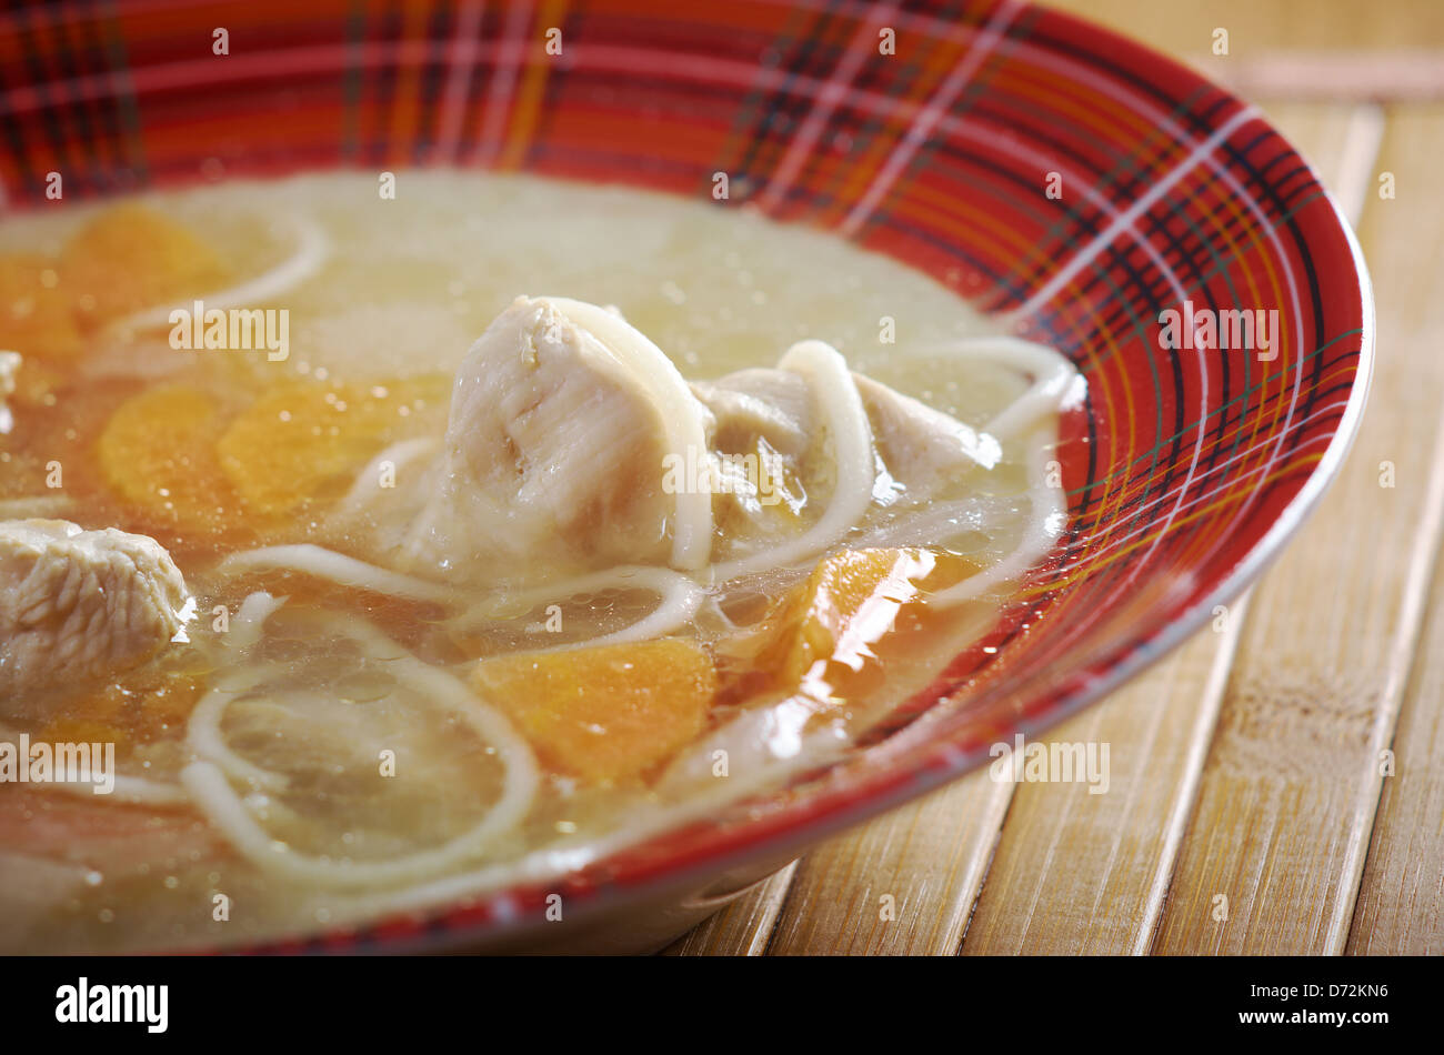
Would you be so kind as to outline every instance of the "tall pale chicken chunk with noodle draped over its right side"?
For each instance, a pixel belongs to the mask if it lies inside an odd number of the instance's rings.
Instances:
[[[403,541],[420,572],[516,576],[625,563],[696,567],[710,496],[667,494],[708,411],[621,316],[518,297],[456,372],[439,462]]]

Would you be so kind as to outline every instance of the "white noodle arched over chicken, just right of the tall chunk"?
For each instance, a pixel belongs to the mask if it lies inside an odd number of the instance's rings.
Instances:
[[[797,538],[749,557],[713,564],[712,582],[716,583],[760,567],[780,567],[812,557],[851,531],[872,504],[872,486],[877,481],[872,424],[848,361],[822,341],[800,341],[787,349],[777,365],[806,377],[813,398],[826,411],[827,434],[838,466],[832,501],[822,518]]]

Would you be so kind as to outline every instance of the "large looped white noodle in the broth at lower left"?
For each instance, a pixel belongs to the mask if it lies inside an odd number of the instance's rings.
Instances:
[[[180,782],[241,856],[269,873],[316,886],[416,882],[475,856],[494,839],[516,827],[536,800],[540,771],[530,745],[517,735],[505,716],[478,700],[455,677],[417,660],[361,619],[348,618],[342,625],[349,636],[370,649],[371,658],[387,662],[397,673],[399,681],[409,683],[427,703],[458,714],[491,745],[505,775],[501,795],[477,826],[442,846],[391,860],[321,857],[299,853],[271,839],[215,761],[192,762],[180,771]],[[224,703],[219,706],[224,707]]]

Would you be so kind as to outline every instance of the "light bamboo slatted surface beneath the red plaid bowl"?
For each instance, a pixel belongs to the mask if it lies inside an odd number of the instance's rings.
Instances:
[[[1259,102],[1340,195],[1379,315],[1363,430],[1226,618],[1054,730],[1110,745],[1108,794],[976,772],[669,953],[1444,953],[1444,4],[1057,6]]]

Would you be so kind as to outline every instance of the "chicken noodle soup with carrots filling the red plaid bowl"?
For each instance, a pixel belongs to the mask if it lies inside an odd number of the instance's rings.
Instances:
[[[1053,547],[1082,387],[830,235],[452,172],[7,216],[0,348],[3,951],[547,882],[843,756]]]

